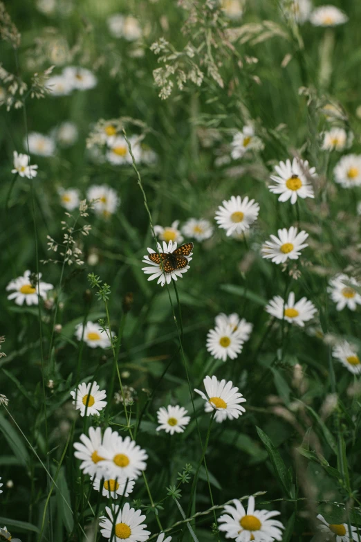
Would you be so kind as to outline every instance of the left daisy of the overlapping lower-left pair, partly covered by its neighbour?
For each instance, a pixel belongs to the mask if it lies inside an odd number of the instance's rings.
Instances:
[[[96,475],[99,478],[108,478],[100,465],[100,462],[104,461],[104,458],[99,454],[99,450],[102,444],[107,448],[112,433],[113,431],[111,428],[107,427],[102,437],[102,430],[100,427],[89,427],[89,437],[82,433],[82,435],[80,435],[81,442],[74,442],[74,455],[75,458],[82,460],[80,469],[84,474],[89,474],[91,477]],[[114,431],[114,433],[118,435],[116,431]]]

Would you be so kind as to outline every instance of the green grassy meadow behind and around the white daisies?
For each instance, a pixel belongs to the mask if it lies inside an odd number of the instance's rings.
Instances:
[[[71,404],[78,382],[96,377],[101,389],[112,387],[112,350],[91,349],[74,334],[86,319],[107,318],[88,273],[111,289],[111,329],[121,334],[118,366],[123,386],[133,388],[131,419],[136,442],[149,455],[146,473],[155,506],[142,478],[128,500],[147,512],[152,534],[160,531],[155,510],[163,528],[182,520],[165,488],[178,484],[177,473],[187,464],[193,469],[190,483],[180,485],[182,509],[192,515],[212,506],[203,466],[196,498],[190,499],[202,448],[186,368],[191,390],[203,390],[203,378],[215,374],[232,380],[247,399],[242,417],[212,425],[206,458],[215,505],[266,491],[257,504],[281,512],[284,541],[310,540],[320,513],[328,523],[361,525],[361,388],[357,375],[331,357],[335,336],[361,346],[360,309],[337,311],[326,291],[336,273],[360,276],[360,188],[337,185],[333,168],[342,154],[360,152],[361,4],[333,4],[349,21],[322,28],[295,24],[271,0],[247,2],[240,19],[227,17],[212,1],[13,0],[6,10],[21,33],[19,42],[1,8],[1,65],[28,89],[33,74],[49,66],[55,66],[51,75],[82,66],[98,80],[93,89],[68,96],[52,96],[40,82],[39,98],[16,91],[23,107],[15,107],[16,100],[8,111],[6,102],[1,105],[0,334],[6,356],[0,359],[0,393],[9,403],[8,410],[0,407],[0,526],[13,538],[78,541],[85,540],[85,530],[90,540],[101,539],[93,525],[107,499],[99,503],[95,491],[89,503],[80,497],[89,491],[89,477],[81,476],[73,442],[91,424],[110,425],[123,435],[127,428],[122,404],[112,398],[95,421],[84,422]],[[137,40],[111,36],[107,19],[115,12],[137,17],[142,29]],[[178,53],[167,50],[159,63],[151,46],[162,37]],[[189,43],[199,48],[192,58],[183,53]],[[174,85],[162,99],[167,82],[157,86],[153,71],[165,65],[176,73],[169,72]],[[194,66],[203,80],[197,84],[192,76],[178,88],[179,70],[189,75]],[[330,104],[331,118],[325,109]],[[179,302],[173,284],[162,288],[142,272],[147,247],[156,247],[136,171],[131,163],[101,161],[86,148],[101,119],[118,119],[127,136],[144,136],[142,143],[156,153],[154,163],[137,164],[154,225],[178,220],[182,226],[191,217],[213,225],[210,239],[194,241],[190,269],[176,282]],[[37,177],[14,179],[13,152],[27,152],[26,134],[50,134],[64,121],[75,123],[77,141],[66,147],[56,143],[53,156],[32,155]],[[250,122],[264,148],[222,161],[230,157],[232,131]],[[332,124],[353,132],[351,150],[322,150],[321,134]],[[268,190],[273,166],[293,156],[307,159],[318,175],[315,199],[297,206],[280,203]],[[61,241],[64,234],[59,188],[77,188],[84,199],[90,186],[102,184],[117,192],[120,206],[107,219],[91,209],[80,218],[80,226],[91,225],[89,235],[78,236],[84,263],[41,263],[55,254],[48,252],[47,236]],[[226,237],[214,221],[218,206],[232,195],[248,196],[260,206],[246,240]],[[309,234],[299,260],[282,269],[261,257],[271,233],[297,225]],[[54,285],[39,310],[7,299],[7,284],[26,269],[39,269],[42,280]],[[284,321],[270,326],[264,307],[290,290],[317,307],[306,328]],[[207,332],[221,312],[235,312],[253,324],[241,354],[225,363],[206,349]],[[118,390],[115,379],[113,392]],[[204,444],[210,415],[203,399],[192,397]],[[184,406],[191,416],[185,432],[172,437],[156,431],[156,412],[169,404]],[[57,487],[51,488],[39,458],[57,476]],[[224,540],[212,513],[192,525],[199,541]],[[170,534],[192,540],[185,523]]]

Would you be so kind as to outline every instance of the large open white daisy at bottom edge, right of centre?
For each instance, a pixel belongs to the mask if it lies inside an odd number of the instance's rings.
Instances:
[[[234,506],[225,505],[224,514],[219,518],[219,530],[224,531],[226,539],[236,539],[236,542],[272,542],[282,539],[281,529],[284,525],[272,519],[279,512],[268,510],[255,510],[254,497],[248,498],[247,512],[241,502],[233,500]]]

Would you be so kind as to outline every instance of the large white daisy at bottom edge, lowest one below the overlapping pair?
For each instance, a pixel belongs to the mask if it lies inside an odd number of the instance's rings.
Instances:
[[[140,510],[131,508],[129,503],[125,503],[122,509],[119,505],[106,506],[105,512],[108,517],[101,516],[99,521],[100,532],[105,539],[111,539],[111,542],[145,542],[149,539],[150,531],[145,531],[147,525],[142,523],[145,516]]]

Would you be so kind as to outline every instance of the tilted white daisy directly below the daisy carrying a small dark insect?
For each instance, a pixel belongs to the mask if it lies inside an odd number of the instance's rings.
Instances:
[[[297,228],[291,226],[288,230],[283,228],[279,230],[278,237],[271,235],[271,241],[266,241],[261,249],[263,258],[271,258],[275,264],[284,264],[287,260],[298,260],[302,249],[308,246],[305,243],[308,233],[300,231],[297,234]]]

